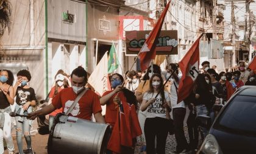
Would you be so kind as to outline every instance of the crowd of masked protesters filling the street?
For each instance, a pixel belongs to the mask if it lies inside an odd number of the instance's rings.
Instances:
[[[236,89],[243,85],[256,86],[256,72],[245,68],[243,62],[239,64],[238,71],[219,72],[215,65],[210,68],[210,63],[204,61],[201,66],[201,73],[197,75],[193,89],[187,99],[177,103],[179,81],[182,77],[179,66],[170,63],[165,70],[157,65],[151,65],[144,71],[130,71],[126,74],[112,74],[110,76],[111,91],[106,91],[102,97],[97,96],[93,87],[87,83],[87,72],[84,68],[75,69],[69,76],[62,70],[55,75],[55,82],[49,93],[48,105],[34,113],[32,107],[35,103],[35,91],[27,83],[31,80],[30,72],[21,70],[17,73],[17,81],[13,85],[14,77],[11,71],[2,69],[0,76],[0,153],[4,153],[4,143],[7,143],[9,153],[14,153],[14,145],[11,136],[12,122],[9,113],[10,105],[16,102],[15,112],[29,114],[29,117],[15,117],[16,142],[18,153],[34,153],[30,137],[32,120],[37,116],[49,119],[57,113],[62,113],[65,108],[63,99],[75,99],[77,94],[87,87],[85,93],[90,98],[83,103],[90,103],[90,107],[80,106],[80,112],[72,113],[73,116],[91,120],[94,114],[96,122],[111,125],[117,129],[116,119],[118,118],[118,107],[122,104],[122,111],[131,111],[134,135],[130,137],[132,145],[122,148],[121,153],[133,153],[135,142],[141,146],[142,153],[165,153],[166,138],[168,132],[175,135],[177,146],[172,153],[186,153],[197,149],[199,133],[195,125],[197,115],[207,115],[212,121],[218,114],[215,108],[225,105]],[[172,77],[170,75],[172,74]],[[169,78],[170,77],[170,78]],[[167,81],[166,81],[167,80]],[[162,88],[164,83],[167,83]],[[66,96],[66,94],[74,96]],[[16,99],[15,99],[16,96]],[[72,97],[72,98],[71,98]],[[79,102],[80,105],[80,102]],[[101,115],[101,105],[106,105],[105,115]],[[88,108],[82,111],[82,108]],[[183,130],[183,121],[186,110],[190,113],[187,120],[190,142],[187,142]],[[89,113],[86,113],[89,112]],[[171,115],[172,114],[172,115]],[[44,117],[45,115],[45,117]],[[135,115],[135,116],[134,116]],[[169,121],[172,117],[173,121]],[[172,122],[173,129],[170,132],[169,122]],[[51,122],[50,122],[51,123]],[[51,124],[50,124],[51,125]],[[202,129],[204,138],[207,130]],[[26,139],[27,149],[23,150],[22,137]],[[117,153],[115,146],[115,132],[112,131],[107,153]],[[120,150],[120,149],[119,149]]]

